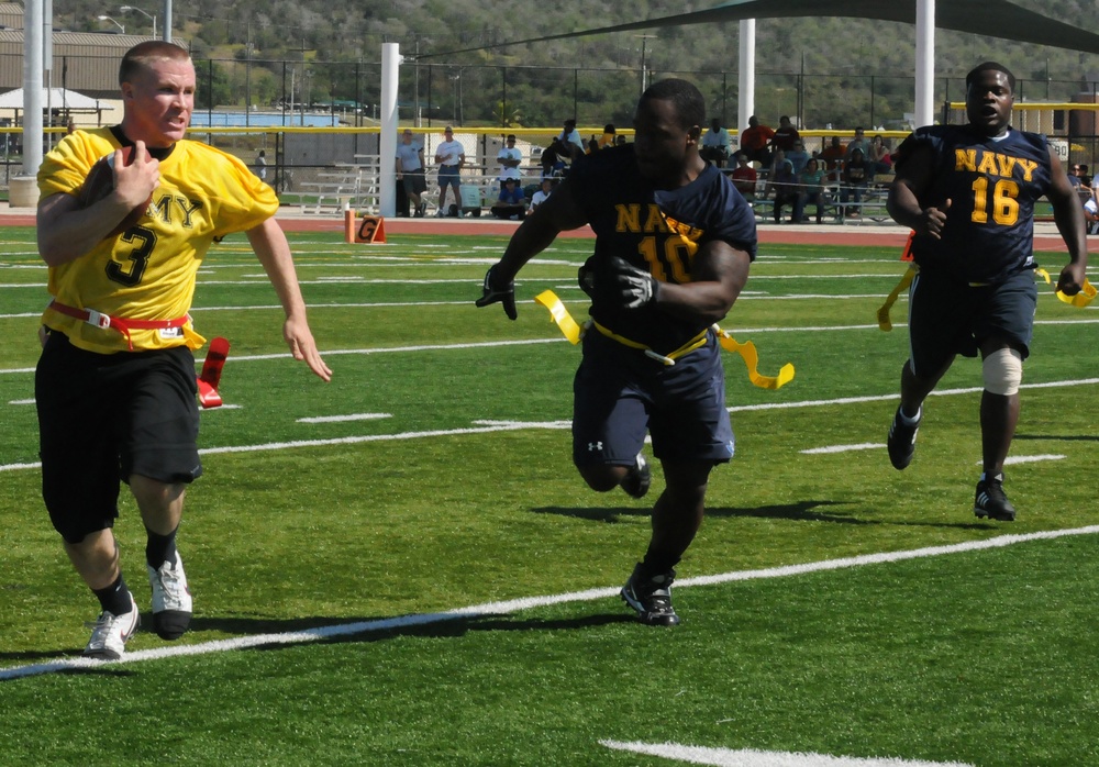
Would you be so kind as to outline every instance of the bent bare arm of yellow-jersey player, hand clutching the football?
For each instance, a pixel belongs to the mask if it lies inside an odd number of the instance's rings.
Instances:
[[[160,164],[149,160],[144,142],[137,142],[132,165],[114,155],[114,190],[88,208],[73,194],[51,194],[38,202],[38,253],[49,266],[76,260],[98,245],[130,211],[160,184]]]

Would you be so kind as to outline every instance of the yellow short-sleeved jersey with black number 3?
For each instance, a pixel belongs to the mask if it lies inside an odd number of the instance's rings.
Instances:
[[[91,166],[119,147],[111,129],[76,131],[44,158],[38,191],[77,194]],[[49,267],[49,293],[62,304],[123,320],[175,320],[187,314],[202,258],[217,237],[258,226],[278,210],[275,191],[236,157],[184,140],[160,160],[160,185],[135,225],[87,254]],[[133,330],[126,337],[47,309],[43,324],[80,348],[110,354],[188,345],[185,329]]]

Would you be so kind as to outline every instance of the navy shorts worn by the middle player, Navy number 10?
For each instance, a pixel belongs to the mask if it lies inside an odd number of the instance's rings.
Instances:
[[[577,466],[632,466],[653,437],[668,462],[725,463],[733,430],[725,375],[713,334],[673,366],[590,330],[573,382],[573,460]]]

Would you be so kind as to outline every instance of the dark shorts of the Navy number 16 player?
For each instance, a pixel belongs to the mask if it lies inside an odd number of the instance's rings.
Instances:
[[[985,338],[1000,336],[1030,354],[1037,288],[1030,269],[996,285],[972,286],[922,268],[909,289],[912,371],[933,375],[955,355],[976,357]]]

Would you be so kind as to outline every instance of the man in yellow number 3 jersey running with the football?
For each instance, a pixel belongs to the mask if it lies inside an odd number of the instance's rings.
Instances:
[[[178,638],[191,596],[176,551],[187,485],[202,473],[193,349],[204,340],[187,312],[210,244],[245,232],[286,312],[296,359],[332,371],[313,342],[290,247],[273,218],[274,190],[241,160],[186,141],[195,107],[187,52],[152,41],[122,58],[122,124],[66,136],[38,170],[38,253],[53,301],[35,374],[43,498],[65,551],[100,601],[84,654],[122,657],[138,625],[112,532],[120,482],[147,531],[153,623]],[[122,162],[131,146],[134,162]],[[81,208],[92,165],[114,156],[114,189]],[[152,193],[146,215],[115,226]]]

